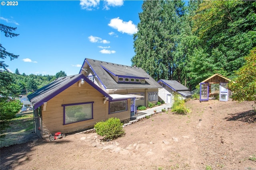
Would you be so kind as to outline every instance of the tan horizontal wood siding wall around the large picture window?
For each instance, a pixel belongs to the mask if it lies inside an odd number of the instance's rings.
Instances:
[[[80,87],[78,83],[75,83],[47,102],[46,110],[42,111],[43,130],[50,133],[58,131],[68,133],[93,127],[96,122],[104,121],[110,117],[118,117],[121,121],[130,118],[129,110],[109,115],[108,101],[106,104],[103,101],[104,96],[87,82]],[[93,119],[63,125],[64,110],[62,105],[84,102],[94,102]]]

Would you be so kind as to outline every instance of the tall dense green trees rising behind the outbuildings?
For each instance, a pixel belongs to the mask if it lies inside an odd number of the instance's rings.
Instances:
[[[215,73],[236,76],[256,47],[256,1],[144,1],[132,65],[190,90]]]

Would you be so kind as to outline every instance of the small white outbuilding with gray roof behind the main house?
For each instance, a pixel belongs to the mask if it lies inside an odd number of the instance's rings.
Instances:
[[[190,98],[191,93],[186,86],[183,86],[176,80],[158,80],[158,83],[162,86],[162,89],[159,90],[158,95],[161,100],[164,100],[165,103],[174,102],[174,92],[177,92],[182,96],[183,99]]]

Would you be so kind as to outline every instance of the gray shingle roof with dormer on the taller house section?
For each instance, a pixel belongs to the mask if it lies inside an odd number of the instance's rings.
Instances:
[[[162,88],[148,73],[142,68],[126,66],[122,64],[114,64],[94,59],[86,59],[91,68],[94,70],[98,78],[104,84],[106,89],[122,89],[122,88]],[[82,66],[83,68],[83,66]],[[80,71],[81,72],[81,71]],[[145,78],[145,84],[131,82],[116,82],[110,74],[115,76],[126,76],[130,78]]]

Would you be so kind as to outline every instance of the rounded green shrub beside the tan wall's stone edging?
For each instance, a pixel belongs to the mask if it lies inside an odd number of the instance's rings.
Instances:
[[[118,137],[122,137],[125,132],[123,124],[120,119],[111,117],[106,121],[100,121],[94,125],[96,133],[100,136],[104,136],[103,140],[113,140]]]

